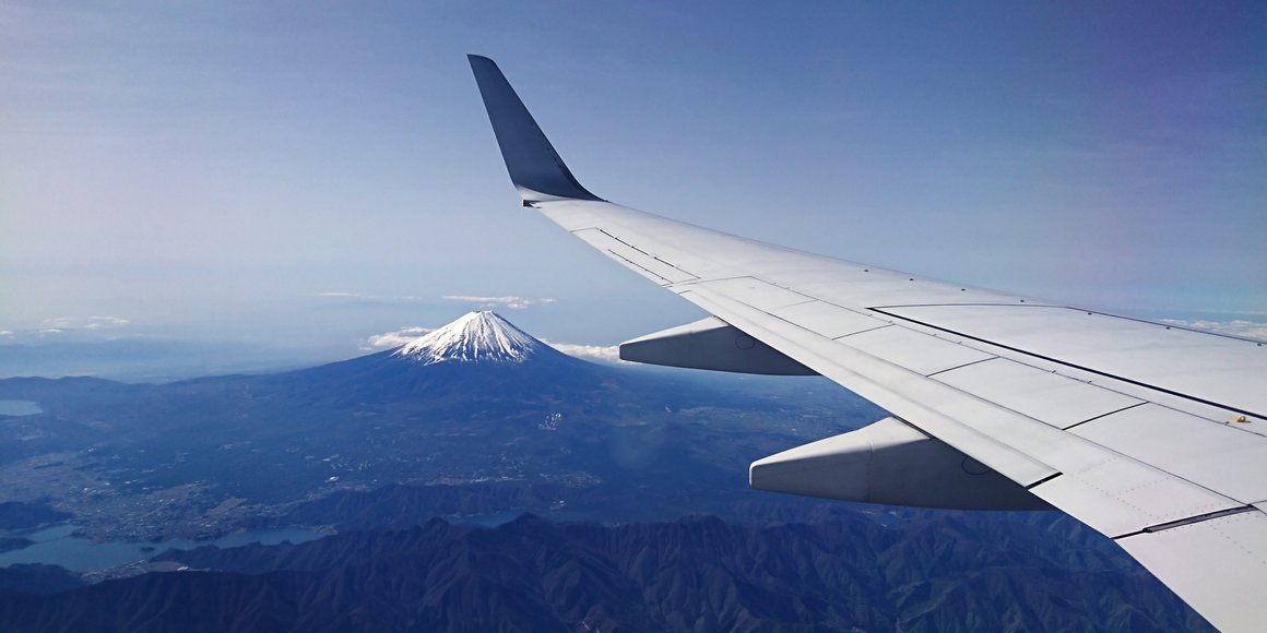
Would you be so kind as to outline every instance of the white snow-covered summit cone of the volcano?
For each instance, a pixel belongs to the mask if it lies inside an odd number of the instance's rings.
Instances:
[[[422,365],[438,362],[518,363],[549,347],[492,310],[471,311],[397,349],[392,356]]]

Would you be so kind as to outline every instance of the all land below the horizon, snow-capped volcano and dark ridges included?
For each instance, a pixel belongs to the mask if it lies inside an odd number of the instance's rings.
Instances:
[[[1205,627],[1058,513],[750,490],[753,460],[884,417],[825,380],[594,365],[493,313],[310,368],[0,400],[38,403],[0,415],[6,547],[48,525],[153,544],[0,570],[0,630]],[[162,546],[271,528],[337,534]]]

